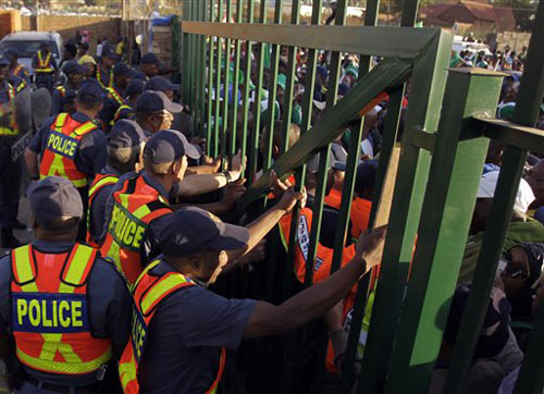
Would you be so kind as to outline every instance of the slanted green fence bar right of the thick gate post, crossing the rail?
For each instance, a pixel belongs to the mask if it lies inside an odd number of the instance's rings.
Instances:
[[[544,2],[541,1],[535,15],[535,25],[529,45],[527,64],[516,100],[512,121],[524,126],[534,126],[539,116],[544,94]],[[535,147],[537,148],[537,147]],[[507,147],[490,219],[486,224],[473,285],[461,320],[454,349],[450,371],[447,378],[446,393],[460,393],[469,371],[469,360],[483,324],[487,299],[493,286],[494,274],[502,255],[504,239],[509,224],[509,213],[516,198],[521,171],[527,151]],[[506,214],[505,214],[506,213]]]

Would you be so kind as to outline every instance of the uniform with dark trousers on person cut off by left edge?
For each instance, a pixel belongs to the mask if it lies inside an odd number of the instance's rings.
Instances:
[[[16,94],[12,84],[0,83],[0,225],[3,232],[12,231],[18,212],[21,162],[13,161],[11,151],[20,137],[13,101]]]

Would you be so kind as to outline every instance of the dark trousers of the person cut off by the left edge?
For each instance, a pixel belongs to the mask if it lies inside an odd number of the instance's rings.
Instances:
[[[11,146],[0,140],[0,225],[15,224],[21,197],[21,158],[11,160]]]

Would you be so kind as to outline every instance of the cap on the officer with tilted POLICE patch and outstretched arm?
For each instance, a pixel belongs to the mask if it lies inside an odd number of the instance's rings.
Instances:
[[[199,159],[200,153],[187,138],[175,130],[161,130],[147,141],[144,156],[156,164],[169,163],[187,156]]]

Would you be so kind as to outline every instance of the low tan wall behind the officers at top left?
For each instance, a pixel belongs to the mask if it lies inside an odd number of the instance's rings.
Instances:
[[[30,16],[22,16],[22,29],[32,29]],[[107,16],[65,16],[65,15],[40,15],[39,30],[60,33],[64,40],[74,37],[75,30],[89,30],[90,53],[95,53],[98,38],[108,38],[110,44],[115,44],[121,38],[121,19]]]

